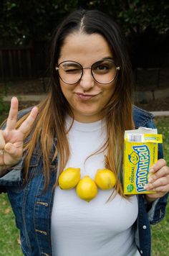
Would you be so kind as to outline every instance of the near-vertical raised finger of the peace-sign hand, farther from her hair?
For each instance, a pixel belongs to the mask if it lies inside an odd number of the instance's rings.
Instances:
[[[6,129],[12,130],[16,127],[16,121],[17,121],[17,115],[18,115],[18,99],[16,97],[11,98],[11,107],[9,110],[9,116],[7,118],[6,122]]]

